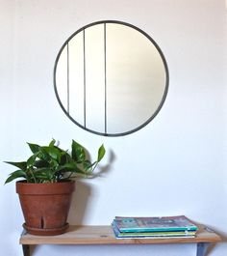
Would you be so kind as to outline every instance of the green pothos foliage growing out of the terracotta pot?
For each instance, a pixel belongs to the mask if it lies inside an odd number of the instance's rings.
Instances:
[[[60,183],[73,178],[90,178],[97,164],[105,156],[102,145],[94,162],[87,156],[86,149],[75,140],[72,140],[71,151],[64,151],[52,139],[48,146],[28,143],[33,155],[26,161],[6,161],[18,169],[10,174],[5,184],[21,178],[27,183],[44,184]]]

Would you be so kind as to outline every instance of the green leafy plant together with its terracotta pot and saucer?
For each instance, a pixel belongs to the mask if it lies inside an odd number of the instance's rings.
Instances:
[[[24,214],[23,227],[33,235],[59,235],[68,227],[75,178],[90,178],[105,155],[102,145],[97,159],[91,162],[86,149],[72,140],[71,151],[64,151],[52,140],[48,146],[28,143],[32,156],[26,161],[6,161],[18,170],[10,174],[5,184],[15,179],[16,192]]]

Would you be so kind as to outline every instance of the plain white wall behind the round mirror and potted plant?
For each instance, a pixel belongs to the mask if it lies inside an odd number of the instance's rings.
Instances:
[[[226,14],[224,0],[0,0],[0,255],[22,255],[23,217],[11,166],[25,142],[74,138],[94,153],[105,143],[102,177],[79,184],[69,221],[110,224],[114,215],[186,214],[227,235]],[[167,99],[145,128],[106,138],[75,126],[53,89],[63,42],[97,20],[132,23],[161,46],[170,74]],[[225,58],[224,58],[225,56]],[[195,245],[50,246],[34,255],[194,255]],[[224,256],[225,242],[211,251]]]

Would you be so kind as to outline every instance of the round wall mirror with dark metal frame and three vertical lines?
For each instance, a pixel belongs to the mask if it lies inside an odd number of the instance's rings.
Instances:
[[[164,104],[168,70],[160,47],[139,28],[99,21],[75,32],[55,63],[64,113],[79,127],[119,136],[147,125]]]

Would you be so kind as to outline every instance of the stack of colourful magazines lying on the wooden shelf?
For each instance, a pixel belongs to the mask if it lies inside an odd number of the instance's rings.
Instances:
[[[115,216],[116,239],[194,238],[198,227],[185,215],[164,217]]]

